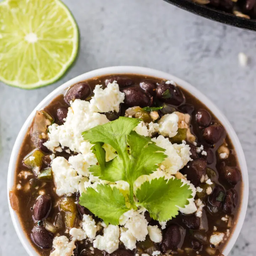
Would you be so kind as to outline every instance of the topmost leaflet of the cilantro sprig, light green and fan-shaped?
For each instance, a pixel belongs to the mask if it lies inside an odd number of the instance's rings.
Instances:
[[[104,142],[111,145],[124,159],[126,156],[126,135],[139,124],[139,119],[129,117],[119,117],[106,124],[96,126],[82,133],[82,137],[90,143]]]

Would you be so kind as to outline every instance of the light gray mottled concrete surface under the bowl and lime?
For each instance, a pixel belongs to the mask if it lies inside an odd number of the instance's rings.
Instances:
[[[256,251],[256,33],[206,20],[162,0],[65,0],[81,34],[75,65],[53,85],[32,91],[0,83],[0,251],[25,256],[7,206],[6,178],[12,146],[30,112],[49,92],[86,71],[138,65],[167,71],[206,94],[233,124],[250,175],[246,220],[230,255]],[[241,68],[238,53],[250,57]],[[0,253],[0,255],[1,255]]]

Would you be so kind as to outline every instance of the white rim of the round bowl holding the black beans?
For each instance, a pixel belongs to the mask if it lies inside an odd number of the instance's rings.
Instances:
[[[18,159],[20,147],[22,145],[22,142],[23,142],[23,139],[25,137],[27,130],[31,125],[33,117],[36,114],[36,111],[41,110],[42,108],[46,107],[55,97],[57,97],[60,94],[63,94],[63,92],[69,86],[75,84],[76,82],[90,79],[95,76],[97,77],[97,76],[101,76],[101,75],[125,74],[125,73],[139,74],[139,75],[145,75],[145,76],[155,76],[156,78],[174,80],[175,82],[177,82],[178,85],[180,85],[185,90],[189,91],[192,95],[194,95],[202,103],[204,103],[209,108],[209,110],[211,110],[215,114],[215,116],[223,124],[227,133],[229,134],[230,139],[231,139],[231,141],[234,145],[234,148],[236,150],[236,155],[238,157],[244,184],[243,184],[243,188],[242,188],[242,204],[240,206],[241,208],[240,208],[238,222],[236,223],[235,230],[233,231],[233,234],[232,234],[231,238],[229,239],[228,243],[226,244],[225,249],[223,251],[223,254],[225,256],[228,255],[230,250],[234,246],[235,241],[238,238],[238,235],[242,228],[242,224],[244,223],[245,213],[246,213],[247,203],[248,203],[248,195],[249,195],[248,172],[247,172],[245,156],[244,156],[244,152],[242,150],[241,144],[239,142],[239,139],[238,139],[234,129],[232,128],[231,124],[229,123],[229,121],[206,96],[204,96],[200,91],[198,91],[196,88],[194,88],[192,85],[188,84],[187,82],[185,82],[179,78],[176,78],[173,75],[170,75],[170,74],[158,71],[158,70],[142,68],[142,67],[137,67],[137,66],[113,66],[113,67],[108,67],[108,68],[96,69],[96,70],[87,72],[85,74],[82,74],[80,76],[77,76],[76,78],[73,78],[73,79],[69,80],[68,82],[65,82],[65,84],[59,86],[52,93],[50,93],[48,96],[46,96],[38,104],[38,106],[32,111],[30,116],[27,118],[26,122],[23,124],[23,126],[20,130],[20,133],[18,134],[18,137],[16,139],[16,142],[14,144],[14,147],[12,149],[10,164],[9,164],[9,169],[8,169],[8,177],[7,177],[8,195],[9,195],[9,191],[15,185],[14,181],[15,181],[15,172],[16,172],[16,162]],[[38,256],[37,252],[34,250],[33,246],[31,245],[31,241],[27,238],[26,234],[24,233],[24,231],[22,229],[22,225],[18,219],[17,213],[11,208],[9,196],[8,196],[8,202],[9,202],[9,209],[10,209],[10,213],[11,213],[12,222],[14,224],[14,227],[16,229],[18,237],[21,240],[21,243],[25,247],[28,255]]]

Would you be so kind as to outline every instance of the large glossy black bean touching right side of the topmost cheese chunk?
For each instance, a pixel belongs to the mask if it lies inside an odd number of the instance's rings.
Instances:
[[[137,87],[129,87],[122,91],[125,94],[124,103],[129,107],[146,107],[153,103],[153,97]]]

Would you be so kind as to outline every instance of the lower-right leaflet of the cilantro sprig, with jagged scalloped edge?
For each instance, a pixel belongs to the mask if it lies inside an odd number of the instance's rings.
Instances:
[[[164,177],[144,182],[136,191],[139,205],[145,207],[150,216],[158,221],[166,221],[178,215],[178,207],[183,208],[192,198],[190,187],[177,178]]]

